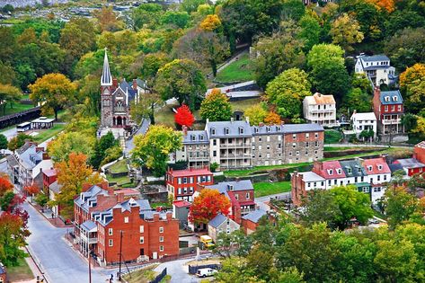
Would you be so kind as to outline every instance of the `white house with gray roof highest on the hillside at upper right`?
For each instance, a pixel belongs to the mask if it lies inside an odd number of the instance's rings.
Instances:
[[[357,57],[355,72],[366,74],[375,86],[392,84],[396,78],[394,66],[390,66],[390,58],[385,55],[360,55]]]

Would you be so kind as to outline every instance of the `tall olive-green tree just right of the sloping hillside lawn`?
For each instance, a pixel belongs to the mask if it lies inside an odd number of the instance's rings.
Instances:
[[[289,68],[305,66],[299,31],[294,22],[282,22],[278,32],[257,41],[255,50],[260,55],[255,59],[255,79],[261,87]]]

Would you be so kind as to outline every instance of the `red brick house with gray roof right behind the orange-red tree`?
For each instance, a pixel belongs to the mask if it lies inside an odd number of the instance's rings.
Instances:
[[[223,181],[216,185],[199,186],[197,190],[202,189],[218,190],[226,195],[231,203],[228,217],[237,224],[241,224],[241,217],[255,210],[254,190],[250,180]],[[196,194],[193,195],[194,198]]]

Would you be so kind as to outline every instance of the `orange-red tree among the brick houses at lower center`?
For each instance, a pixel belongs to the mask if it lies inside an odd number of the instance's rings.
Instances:
[[[228,215],[230,200],[218,190],[204,189],[193,199],[190,207],[189,220],[194,224],[208,223],[218,213]]]

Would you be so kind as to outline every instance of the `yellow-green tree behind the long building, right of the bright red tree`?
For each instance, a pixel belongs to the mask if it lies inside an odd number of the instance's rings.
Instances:
[[[232,105],[225,93],[213,89],[200,105],[200,117],[210,121],[226,121],[232,117]]]

